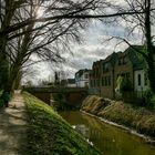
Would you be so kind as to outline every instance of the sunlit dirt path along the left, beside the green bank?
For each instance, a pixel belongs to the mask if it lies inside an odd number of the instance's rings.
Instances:
[[[17,92],[9,107],[0,108],[0,155],[27,154],[27,113]]]

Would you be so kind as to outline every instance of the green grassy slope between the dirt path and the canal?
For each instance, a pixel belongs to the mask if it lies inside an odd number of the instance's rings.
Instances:
[[[101,155],[49,105],[28,93],[23,97],[30,123],[30,155]]]

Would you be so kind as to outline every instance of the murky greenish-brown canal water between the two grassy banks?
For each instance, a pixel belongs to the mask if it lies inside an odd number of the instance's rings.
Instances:
[[[125,130],[82,112],[68,111],[59,114],[104,155],[155,155],[155,146]]]

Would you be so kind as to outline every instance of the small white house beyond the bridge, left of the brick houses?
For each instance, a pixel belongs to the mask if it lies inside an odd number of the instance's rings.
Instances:
[[[79,70],[75,73],[75,83],[78,87],[86,87],[89,86],[89,76],[90,76],[90,71],[87,69]]]

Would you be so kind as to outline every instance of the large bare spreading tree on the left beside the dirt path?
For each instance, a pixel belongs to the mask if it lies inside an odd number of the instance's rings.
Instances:
[[[59,18],[90,10],[93,1],[2,1],[1,4],[1,60],[10,63],[9,76],[6,89],[13,89],[16,78],[30,56],[38,55],[39,61],[62,61],[60,50],[68,50],[70,40],[80,41],[79,28],[84,28],[85,22],[78,19]],[[46,17],[56,17],[53,20],[38,19],[38,11],[43,9]],[[9,13],[10,12],[10,13]],[[44,18],[45,19],[45,18]],[[29,22],[31,21],[31,22]],[[39,21],[38,23],[35,23]],[[24,24],[22,24],[24,23]],[[18,27],[17,29],[17,25]],[[22,27],[21,27],[22,25]],[[10,29],[11,28],[11,29]],[[9,31],[8,31],[9,30]],[[11,30],[11,31],[10,31]],[[3,33],[4,32],[4,33]],[[30,64],[29,64],[30,65]]]

